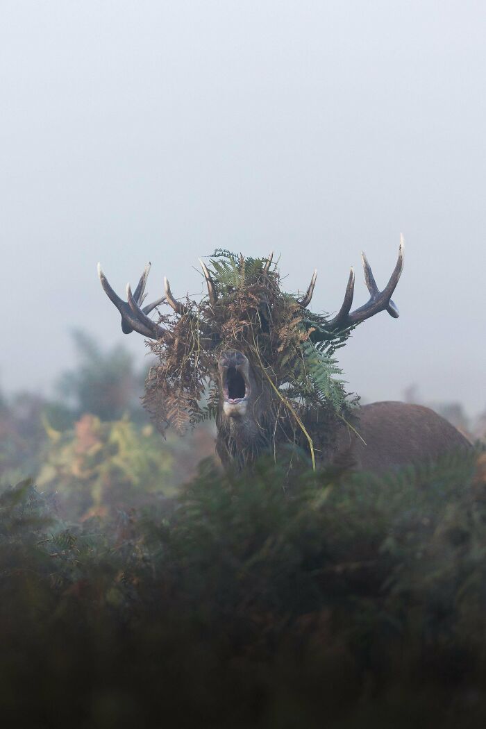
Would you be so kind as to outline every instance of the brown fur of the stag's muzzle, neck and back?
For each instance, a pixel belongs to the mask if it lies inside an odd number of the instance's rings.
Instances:
[[[248,368],[248,383],[248,408],[238,418],[224,414],[221,390],[216,452],[223,464],[242,468],[265,451],[278,458],[281,448],[292,443],[308,451],[302,429],[262,381],[258,367]],[[383,472],[436,461],[448,451],[471,448],[458,429],[423,405],[374,402],[353,410],[348,416],[349,425],[325,408],[301,406],[299,416],[312,438],[315,460],[321,467]]]

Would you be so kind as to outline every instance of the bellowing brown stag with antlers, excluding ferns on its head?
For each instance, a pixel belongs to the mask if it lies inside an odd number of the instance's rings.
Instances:
[[[242,259],[242,265],[243,262]],[[436,460],[452,449],[468,448],[469,442],[457,429],[421,405],[375,402],[355,408],[351,416],[345,418],[342,413],[327,408],[322,400],[309,405],[292,397],[291,388],[285,389],[286,381],[291,381],[290,373],[287,376],[285,371],[282,373],[273,367],[275,353],[283,347],[281,332],[289,331],[289,327],[277,321],[277,301],[283,301],[286,311],[290,312],[292,331],[297,332],[302,342],[318,343],[325,338],[340,337],[344,341],[354,327],[377,313],[388,311],[395,319],[399,316],[391,296],[404,265],[403,241],[400,241],[398,259],[384,289],[378,288],[364,254],[362,262],[369,300],[352,310],[355,277],[351,268],[342,305],[332,318],[318,317],[308,309],[316,270],[302,298],[287,296],[282,299],[273,254],[261,260],[250,281],[246,282],[242,276],[239,288],[235,289],[223,290],[205,263],[200,261],[208,289],[203,305],[177,300],[165,278],[165,294],[144,306],[150,264],[146,265],[135,291],[127,285],[126,301],[111,288],[99,264],[98,275],[106,295],[121,314],[125,334],[138,332],[154,342],[156,351],[164,353],[166,358],[172,357],[175,362],[186,356],[184,339],[197,340],[197,361],[203,363],[205,373],[217,383],[216,451],[224,464],[241,467],[265,451],[276,454],[283,444],[294,443],[307,450],[314,463],[380,472],[404,464]],[[247,297],[245,301],[251,301],[252,313],[248,313],[250,310],[238,313],[243,300],[238,296],[243,295],[242,292]],[[162,303],[175,313],[179,328],[168,326],[168,316],[160,315],[159,321],[150,318],[149,314]],[[266,351],[256,345],[259,341],[270,343]],[[192,359],[187,357],[187,361],[189,359],[194,364],[194,356]],[[289,357],[288,367],[294,364],[295,358]],[[183,377],[182,369],[180,377]],[[151,387],[152,401],[159,389],[164,396],[170,394],[167,371],[159,380],[152,378]],[[200,383],[197,394],[200,396],[202,392],[203,384]]]

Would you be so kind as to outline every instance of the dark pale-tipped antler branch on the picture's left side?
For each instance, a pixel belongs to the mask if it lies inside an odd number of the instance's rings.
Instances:
[[[101,270],[101,264],[98,263],[98,276],[100,277],[101,286],[103,286],[104,292],[117,307],[119,313],[122,315],[122,331],[125,334],[130,334],[130,332],[138,332],[138,334],[141,334],[144,337],[149,337],[151,339],[171,340],[172,335],[170,334],[170,332],[160,327],[159,324],[155,324],[155,322],[152,321],[152,319],[149,319],[149,316],[147,316],[152,311],[152,309],[165,301],[166,297],[162,296],[160,297],[160,299],[157,299],[157,301],[152,302],[152,304],[141,308],[141,304],[144,302],[144,299],[146,297],[144,291],[146,279],[147,276],[149,276],[149,270],[150,263],[147,263],[146,267],[144,268],[144,273],[142,273],[140,281],[138,281],[137,287],[133,294],[130,289],[130,284],[127,284],[128,301],[123,301],[111,288],[108,279]]]

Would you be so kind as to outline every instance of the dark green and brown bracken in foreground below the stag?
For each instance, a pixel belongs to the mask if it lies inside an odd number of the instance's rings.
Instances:
[[[2,724],[484,726],[485,455],[287,480],[205,461],[69,525],[4,490]]]

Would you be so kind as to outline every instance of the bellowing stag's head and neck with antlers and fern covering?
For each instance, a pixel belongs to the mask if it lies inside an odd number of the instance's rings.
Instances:
[[[201,262],[207,295],[200,302],[176,300],[165,279],[165,295],[144,306],[148,264],[127,300],[111,288],[98,265],[101,285],[122,316],[125,334],[149,340],[158,363],[146,381],[144,405],[160,429],[183,431],[214,415],[223,461],[252,461],[279,443],[302,443],[313,455],[310,421],[342,416],[349,401],[335,377],[332,358],[361,321],[380,311],[399,316],[391,295],[403,267],[403,243],[388,284],[378,289],[363,254],[369,290],[366,304],[351,311],[350,271],[340,310],[329,317],[309,311],[317,273],[303,297],[281,290],[273,254],[248,259],[216,252]],[[161,313],[160,305],[168,305]],[[158,321],[149,317],[154,309]]]

